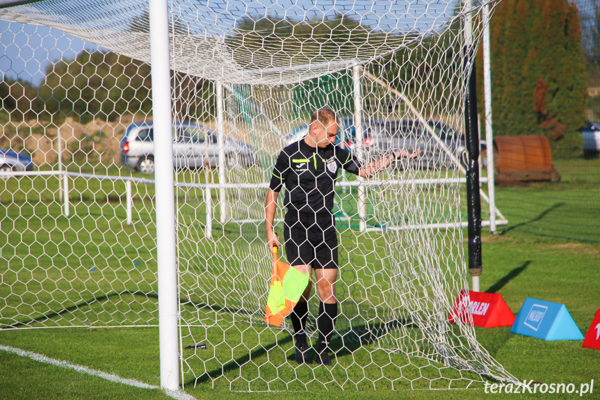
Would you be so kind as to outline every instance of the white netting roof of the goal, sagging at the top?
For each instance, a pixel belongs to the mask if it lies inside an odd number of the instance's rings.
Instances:
[[[173,1],[176,70],[211,80],[290,83],[380,58],[448,29],[457,1]],[[44,24],[118,54],[149,61],[143,1],[68,0],[2,11],[3,18]],[[177,65],[175,65],[177,63]]]

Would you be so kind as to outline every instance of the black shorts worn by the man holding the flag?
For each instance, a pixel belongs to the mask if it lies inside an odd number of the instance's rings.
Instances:
[[[305,264],[314,269],[338,267],[338,241],[332,214],[288,212],[284,222],[284,246],[290,265]]]

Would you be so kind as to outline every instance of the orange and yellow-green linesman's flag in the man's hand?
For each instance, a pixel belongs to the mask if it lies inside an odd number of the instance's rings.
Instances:
[[[277,247],[273,247],[273,272],[267,299],[265,321],[281,326],[284,318],[292,312],[308,285],[307,273],[300,273],[289,264],[279,261]]]

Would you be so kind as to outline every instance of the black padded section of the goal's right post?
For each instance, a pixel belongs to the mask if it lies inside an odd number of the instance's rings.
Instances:
[[[481,198],[479,195],[479,135],[477,120],[476,47],[464,47],[464,72],[469,77],[464,104],[465,146],[467,147],[467,216],[469,218],[469,273],[481,275]]]

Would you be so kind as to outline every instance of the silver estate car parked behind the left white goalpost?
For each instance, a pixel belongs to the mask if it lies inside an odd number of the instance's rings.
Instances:
[[[142,173],[154,172],[154,129],[152,122],[133,123],[120,143],[121,163]],[[251,145],[225,138],[227,168],[252,166],[256,152]],[[216,167],[219,163],[217,132],[193,122],[173,125],[173,165],[176,168]]]

